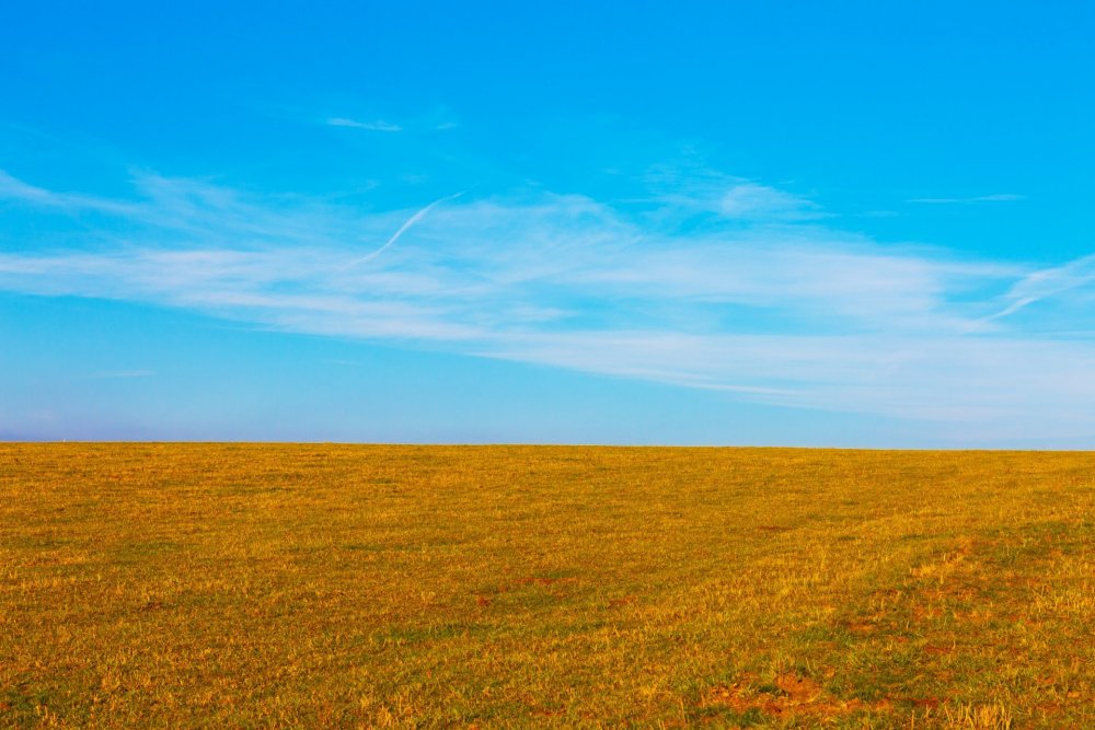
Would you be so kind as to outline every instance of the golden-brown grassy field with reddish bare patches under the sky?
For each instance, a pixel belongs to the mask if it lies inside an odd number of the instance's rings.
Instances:
[[[3,727],[1095,727],[1095,454],[0,444]]]

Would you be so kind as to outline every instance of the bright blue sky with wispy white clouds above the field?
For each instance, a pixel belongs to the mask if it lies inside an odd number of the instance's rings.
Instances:
[[[0,440],[1095,448],[1093,31],[0,4]]]

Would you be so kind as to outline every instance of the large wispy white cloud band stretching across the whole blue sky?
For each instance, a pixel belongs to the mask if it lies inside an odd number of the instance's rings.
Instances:
[[[1005,316],[1083,294],[1095,256],[1039,270],[884,246],[823,225],[810,217],[817,206],[775,187],[707,183],[672,195],[736,225],[682,229],[666,189],[627,212],[551,194],[374,212],[152,174],[138,174],[125,200],[3,175],[0,196],[104,220],[92,247],[81,239],[0,254],[0,289],[150,302],[955,432],[1095,428],[1095,346],[1008,327]]]

